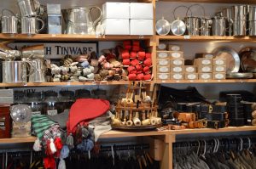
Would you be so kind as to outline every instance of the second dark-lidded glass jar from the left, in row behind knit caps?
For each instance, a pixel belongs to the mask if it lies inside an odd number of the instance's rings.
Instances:
[[[61,113],[58,93],[55,93],[54,91],[44,92],[44,104],[46,104],[45,113],[47,115],[57,115],[58,113]]]

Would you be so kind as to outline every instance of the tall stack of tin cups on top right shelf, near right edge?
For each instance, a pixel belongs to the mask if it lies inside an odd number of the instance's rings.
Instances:
[[[246,36],[247,10],[245,5],[232,6],[233,36]]]

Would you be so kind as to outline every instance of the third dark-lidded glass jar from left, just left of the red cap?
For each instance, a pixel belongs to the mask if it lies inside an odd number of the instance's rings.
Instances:
[[[70,109],[72,104],[74,103],[74,92],[73,91],[68,91],[68,90],[61,90],[60,92],[60,99],[59,101],[61,102],[61,112],[63,112],[66,109]]]

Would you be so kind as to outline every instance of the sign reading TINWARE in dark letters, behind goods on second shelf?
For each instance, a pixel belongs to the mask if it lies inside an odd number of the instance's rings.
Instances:
[[[90,54],[91,52],[97,51],[97,43],[57,43],[57,42],[46,42],[46,43],[38,43],[38,42],[15,42],[10,43],[10,48],[15,48],[20,50],[23,47],[33,46],[37,44],[44,44],[44,54],[45,59],[62,59],[65,55],[79,56],[82,54]]]

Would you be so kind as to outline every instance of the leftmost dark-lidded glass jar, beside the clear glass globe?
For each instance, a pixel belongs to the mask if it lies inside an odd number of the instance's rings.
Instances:
[[[32,115],[44,114],[43,111],[43,99],[41,93],[26,93],[26,104],[32,109]]]

